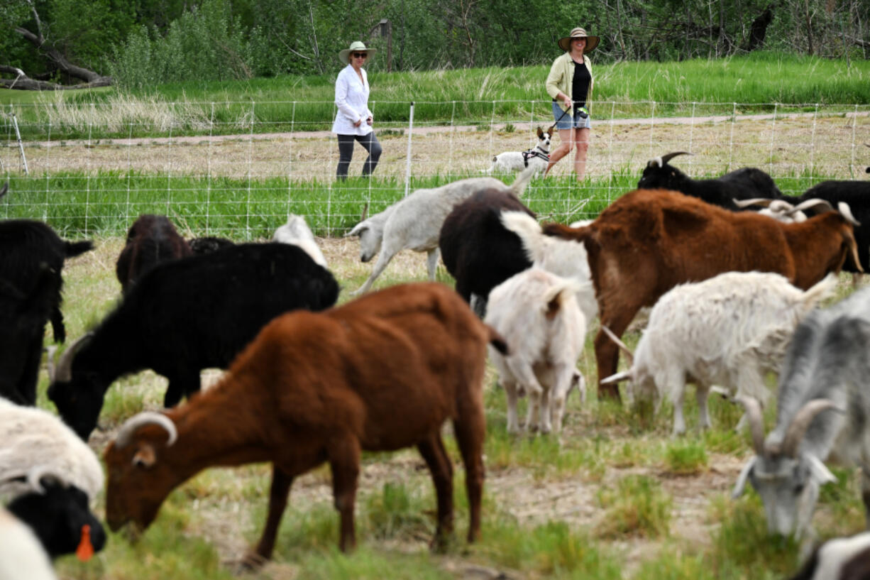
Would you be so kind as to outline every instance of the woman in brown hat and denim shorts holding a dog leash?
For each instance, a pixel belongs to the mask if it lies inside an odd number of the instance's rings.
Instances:
[[[574,172],[577,179],[586,173],[586,152],[589,151],[589,130],[592,121],[586,105],[592,96],[592,62],[586,56],[600,41],[586,30],[575,28],[567,37],[559,38],[559,48],[565,53],[557,57],[546,78],[546,91],[552,97],[552,115],[559,130],[559,146],[550,154],[544,175],[559,159],[576,146]]]

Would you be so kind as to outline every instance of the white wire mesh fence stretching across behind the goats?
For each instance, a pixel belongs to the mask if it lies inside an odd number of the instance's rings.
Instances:
[[[482,175],[493,155],[532,148],[553,121],[548,101],[370,107],[380,163],[372,179],[338,182],[331,102],[10,106],[0,116],[0,172],[11,184],[0,215],[91,235],[159,212],[192,232],[251,239],[297,213],[334,235],[365,207]],[[693,153],[673,160],[692,177],[755,166],[796,194],[822,179],[861,179],[866,144],[870,105],[596,102],[586,179],[572,179],[571,153],[525,202],[552,219],[592,218],[636,185],[648,159],[673,151]],[[357,147],[351,176],[364,160]]]

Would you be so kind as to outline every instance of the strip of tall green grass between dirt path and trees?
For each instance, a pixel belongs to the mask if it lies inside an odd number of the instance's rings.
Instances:
[[[371,71],[370,108],[381,126],[485,125],[549,118],[548,67]],[[753,52],[669,63],[593,63],[596,118],[651,118],[813,111],[814,104],[870,104],[870,61]],[[164,84],[143,94],[117,89],[0,91],[24,138],[106,138],[328,130],[335,74]],[[734,105],[737,104],[737,105]],[[807,106],[804,106],[807,105]],[[864,109],[866,110],[866,109]],[[828,109],[830,111],[830,109]]]

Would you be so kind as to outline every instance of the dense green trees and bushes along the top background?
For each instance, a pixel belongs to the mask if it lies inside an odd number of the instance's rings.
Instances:
[[[545,64],[576,25],[602,37],[599,63],[870,56],[867,0],[3,0],[0,25],[3,78],[66,81],[50,46],[132,89],[323,74],[352,39],[381,51],[372,70]]]

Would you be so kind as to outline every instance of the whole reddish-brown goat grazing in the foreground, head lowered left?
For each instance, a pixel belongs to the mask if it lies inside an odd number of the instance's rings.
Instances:
[[[453,523],[452,463],[441,439],[449,418],[465,464],[472,542],[483,493],[488,343],[506,350],[457,293],[437,283],[390,287],[323,313],[284,314],[215,387],[165,415],[124,424],[105,452],[106,519],[111,529],[130,521],[147,527],[170,491],[200,470],[271,462],[269,515],[245,558],[256,566],[271,557],[293,478],[329,462],[339,547],[351,550],[361,452],[416,445],[435,485],[440,545]]]

